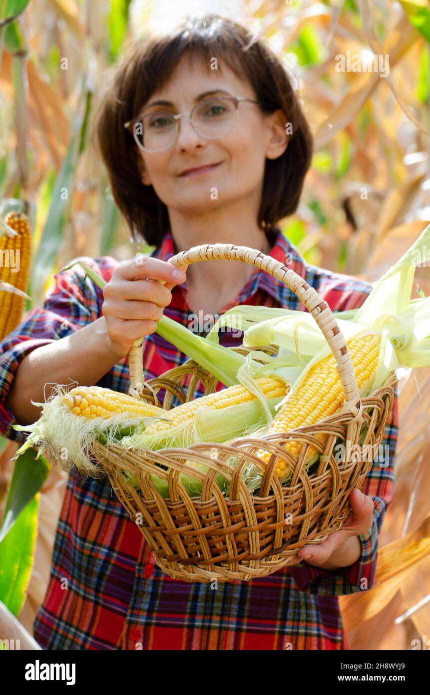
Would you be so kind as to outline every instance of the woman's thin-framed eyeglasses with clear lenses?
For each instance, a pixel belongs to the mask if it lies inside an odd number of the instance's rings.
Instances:
[[[197,104],[187,113],[154,111],[141,114],[124,123],[131,130],[140,149],[145,152],[164,152],[176,142],[179,135],[179,119],[190,116],[190,122],[202,138],[216,140],[229,135],[238,122],[238,106],[241,101],[251,101],[262,106],[260,101],[247,97],[218,97]]]

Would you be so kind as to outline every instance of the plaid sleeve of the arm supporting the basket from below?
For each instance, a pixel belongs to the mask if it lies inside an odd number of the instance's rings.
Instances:
[[[336,309],[347,311],[356,309],[365,296],[351,291],[342,297]],[[361,545],[360,557],[344,568],[325,570],[303,561],[288,568],[297,589],[306,594],[320,596],[342,596],[356,591],[371,589],[377,564],[378,537],[388,505],[394,496],[394,466],[399,434],[399,398],[397,386],[394,389],[392,410],[388,416],[383,439],[379,445],[372,468],[365,478],[362,492],[374,501],[372,526],[358,536]]]

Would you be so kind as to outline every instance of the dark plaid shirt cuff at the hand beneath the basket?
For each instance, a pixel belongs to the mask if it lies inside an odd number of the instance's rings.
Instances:
[[[311,564],[300,563],[288,567],[299,591],[320,596],[344,596],[356,591],[371,589],[376,571],[378,552],[378,529],[373,518],[372,528],[358,536],[360,557],[353,564],[338,569],[322,569]]]

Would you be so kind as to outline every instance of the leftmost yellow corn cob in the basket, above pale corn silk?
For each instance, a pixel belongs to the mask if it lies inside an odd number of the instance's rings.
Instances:
[[[142,418],[166,416],[163,408],[101,386],[76,386],[63,396],[63,403],[72,413],[85,418],[110,418],[118,413]]]

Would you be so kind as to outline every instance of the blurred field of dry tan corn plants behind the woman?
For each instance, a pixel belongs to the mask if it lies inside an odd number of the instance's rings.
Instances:
[[[186,2],[179,7],[187,13]],[[260,28],[300,92],[315,152],[297,213],[281,222],[285,234],[308,263],[379,278],[430,222],[427,0],[206,1],[190,3],[190,14],[196,7]],[[147,0],[0,0],[0,215],[23,211],[33,227],[27,310],[40,306],[53,274],[76,256],[124,259],[150,250],[131,240],[90,133],[129,40],[165,26],[166,17],[175,21],[177,11],[175,3]],[[427,296],[429,269],[415,277]],[[421,549],[430,534],[430,371],[419,378],[420,391],[415,375],[400,384],[396,496],[380,539],[380,547],[397,543],[398,557],[407,534]],[[16,447],[2,446],[4,506]],[[61,503],[64,480],[52,476],[40,497],[45,526],[21,615],[28,630]],[[418,556],[365,596],[341,598],[350,648],[407,649],[430,634],[428,548]]]

